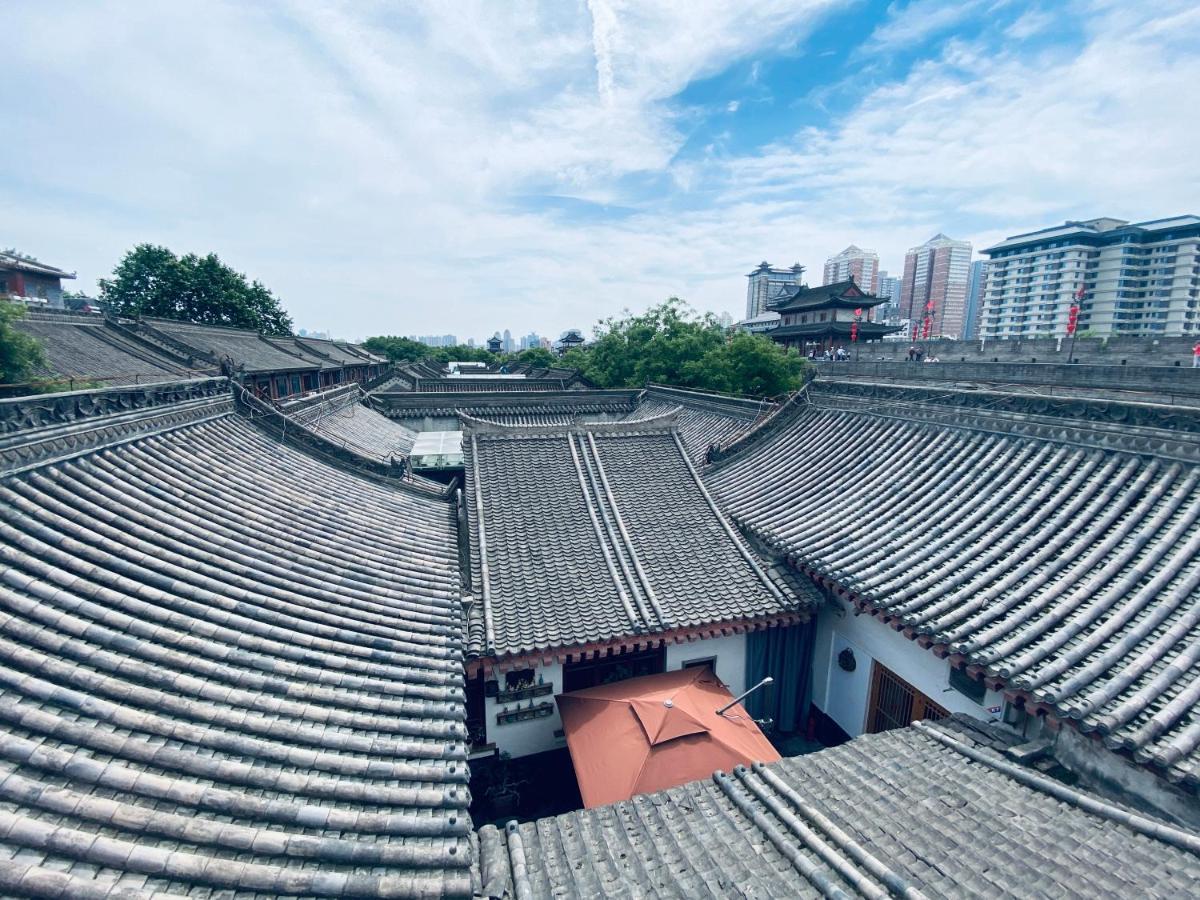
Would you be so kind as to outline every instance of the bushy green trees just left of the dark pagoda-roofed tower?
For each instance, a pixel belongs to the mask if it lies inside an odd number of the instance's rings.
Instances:
[[[600,388],[656,382],[752,396],[797,390],[806,367],[796,350],[762,335],[727,338],[715,316],[697,314],[678,298],[601,322],[595,340],[568,352],[559,365],[578,368]]]

